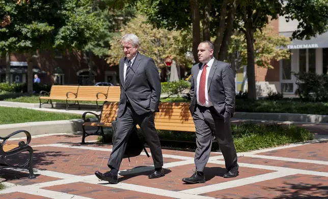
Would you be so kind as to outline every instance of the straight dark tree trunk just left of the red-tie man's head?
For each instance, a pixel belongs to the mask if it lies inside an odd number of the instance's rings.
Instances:
[[[189,0],[190,8],[192,10],[192,23],[193,23],[193,55],[195,62],[198,62],[198,45],[201,42],[201,27],[199,16],[199,0]]]

